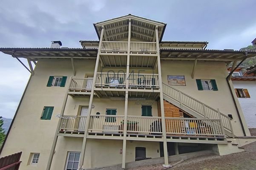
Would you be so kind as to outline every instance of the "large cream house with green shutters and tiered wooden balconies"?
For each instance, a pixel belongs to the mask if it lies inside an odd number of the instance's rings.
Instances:
[[[31,72],[0,156],[21,150],[21,170],[76,170],[242,151],[250,132],[226,65],[256,52],[162,41],[165,23],[131,14],[94,27],[99,40],[83,48],[0,48]]]

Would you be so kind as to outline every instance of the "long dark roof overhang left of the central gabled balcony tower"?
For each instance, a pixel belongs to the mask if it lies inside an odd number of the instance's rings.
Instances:
[[[97,57],[97,48],[0,48],[0,51],[15,58],[79,58],[92,59]]]

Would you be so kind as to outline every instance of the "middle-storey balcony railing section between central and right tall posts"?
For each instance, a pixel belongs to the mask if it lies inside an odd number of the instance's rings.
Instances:
[[[159,88],[158,74],[130,74],[129,88]]]

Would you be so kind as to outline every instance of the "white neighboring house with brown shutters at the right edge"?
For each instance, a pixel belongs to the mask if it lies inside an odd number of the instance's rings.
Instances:
[[[248,127],[256,128],[256,65],[247,68],[244,74],[240,70],[236,69],[231,80]]]

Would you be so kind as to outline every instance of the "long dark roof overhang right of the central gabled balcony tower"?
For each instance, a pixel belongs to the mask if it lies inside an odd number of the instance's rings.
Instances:
[[[212,60],[212,61],[239,61],[255,57],[256,51],[227,51],[227,50],[206,50],[206,49],[160,49],[161,59],[171,60]]]

